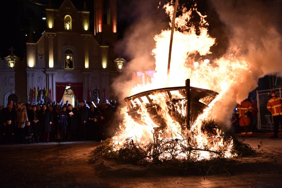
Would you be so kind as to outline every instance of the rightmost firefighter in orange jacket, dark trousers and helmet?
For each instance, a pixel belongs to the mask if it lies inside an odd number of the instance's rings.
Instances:
[[[270,91],[268,94],[271,99],[267,103],[267,110],[271,112],[274,123],[274,134],[270,138],[278,138],[279,123],[282,126],[282,98],[277,97],[275,91]]]

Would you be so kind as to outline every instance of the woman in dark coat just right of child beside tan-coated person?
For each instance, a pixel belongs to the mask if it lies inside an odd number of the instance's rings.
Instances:
[[[39,142],[39,135],[41,135],[41,125],[39,122],[39,113],[36,111],[36,106],[32,107],[32,111],[27,114],[28,120],[31,122],[35,142]]]

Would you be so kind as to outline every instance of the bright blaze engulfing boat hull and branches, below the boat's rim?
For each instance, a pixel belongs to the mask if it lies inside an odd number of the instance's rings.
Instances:
[[[131,148],[148,161],[231,157],[232,139],[221,136],[214,121],[200,119],[217,95],[211,90],[190,87],[189,129],[185,86],[126,97],[123,123],[112,138],[115,150]]]

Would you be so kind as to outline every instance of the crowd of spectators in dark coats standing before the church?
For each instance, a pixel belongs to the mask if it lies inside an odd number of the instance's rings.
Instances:
[[[56,102],[13,103],[0,107],[0,143],[48,143],[77,140],[101,141],[113,136],[116,101],[86,103],[73,107]]]

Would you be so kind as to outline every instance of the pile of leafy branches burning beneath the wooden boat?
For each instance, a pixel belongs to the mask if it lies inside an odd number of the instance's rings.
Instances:
[[[212,137],[217,134],[217,125],[213,120],[202,122],[202,131],[207,132],[208,136]],[[190,133],[189,135],[191,135]],[[228,135],[228,136],[226,136]],[[249,144],[239,141],[231,128],[225,131],[224,142],[226,145],[233,140],[232,154],[237,157],[256,156],[258,152]],[[196,147],[193,144],[181,144],[184,142],[192,142],[189,138],[179,139],[157,139],[148,145],[139,145],[132,138],[128,138],[118,150],[113,145],[112,139],[106,139],[101,142],[90,155],[90,163],[95,163],[101,157],[105,160],[115,160],[120,163],[128,163],[131,165],[141,166],[172,166],[180,168],[185,172],[196,170],[199,174],[208,174],[210,172],[226,172],[229,173],[232,166],[235,164],[234,158],[226,158],[226,148],[220,148],[217,151],[212,151],[208,146],[203,149]],[[181,146],[181,149],[177,146]],[[178,148],[178,149],[177,149]],[[197,152],[209,152],[210,158],[199,160]],[[187,157],[179,157],[179,154],[185,154]]]

